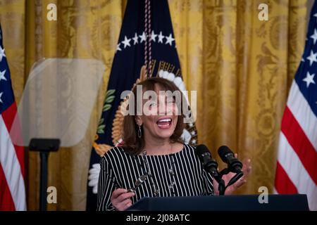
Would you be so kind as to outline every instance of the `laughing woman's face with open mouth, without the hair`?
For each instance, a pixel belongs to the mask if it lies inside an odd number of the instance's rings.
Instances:
[[[175,98],[156,91],[157,99],[143,101],[143,114],[137,117],[142,124],[145,139],[170,139],[178,123]]]

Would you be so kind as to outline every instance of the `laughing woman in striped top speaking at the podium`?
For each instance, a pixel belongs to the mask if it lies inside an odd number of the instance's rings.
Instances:
[[[135,110],[124,117],[123,146],[111,148],[101,158],[97,210],[126,210],[145,196],[213,195],[216,181],[203,169],[195,147],[180,139],[184,107],[175,96],[161,94],[181,93],[178,87],[160,77],[137,85],[142,86],[142,91],[139,93],[135,86],[133,98],[128,100],[129,108],[134,104]],[[146,91],[158,97],[143,99]],[[139,103],[137,99],[143,100]],[[245,180],[239,182],[238,186]]]

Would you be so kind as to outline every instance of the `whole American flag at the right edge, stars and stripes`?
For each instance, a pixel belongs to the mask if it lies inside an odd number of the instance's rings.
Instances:
[[[317,210],[317,1],[311,9],[304,54],[282,117],[275,193],[306,194]]]

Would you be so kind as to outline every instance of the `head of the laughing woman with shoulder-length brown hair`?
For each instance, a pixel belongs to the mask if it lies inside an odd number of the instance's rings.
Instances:
[[[141,103],[142,112],[137,112],[139,107],[135,107],[133,115],[125,116],[123,120],[125,150],[132,154],[139,154],[142,150],[147,149],[149,153],[151,149],[147,144],[154,144],[155,146],[155,143],[161,144],[164,141],[168,145],[171,143],[173,146],[178,145],[178,148],[180,148],[180,144],[177,143],[182,143],[182,139],[180,139],[184,129],[182,108],[187,108],[187,101],[185,98],[174,98],[174,96],[162,94],[162,92],[175,93],[175,91],[181,94],[180,89],[173,82],[160,77],[146,79],[138,85],[142,86],[142,93],[138,93],[135,87],[132,90],[135,98],[130,98],[130,101],[133,102],[130,102],[129,106],[132,104],[139,106],[137,105],[138,95],[144,96],[146,91],[155,91],[154,94],[159,97],[151,96],[144,99]],[[172,98],[172,101],[170,101],[170,98]],[[178,99],[177,102],[175,102],[176,99]],[[149,107],[143,107],[145,105],[149,105]],[[185,107],[181,107],[181,105],[185,105]],[[160,108],[163,108],[163,110],[160,110]],[[157,150],[155,154],[158,154]]]

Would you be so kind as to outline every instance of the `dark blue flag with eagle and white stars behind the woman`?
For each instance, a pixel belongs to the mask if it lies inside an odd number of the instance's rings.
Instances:
[[[150,12],[151,31],[144,28],[146,3]],[[150,9],[150,10],[149,10]],[[148,39],[147,39],[148,37]],[[175,46],[172,22],[167,0],[128,0],[120,30],[120,37],[113,58],[113,65],[108,81],[108,89],[104,101],[104,108],[99,121],[97,135],[92,148],[87,182],[87,210],[97,208],[97,187],[100,171],[100,158],[103,153],[98,145],[105,144],[108,148],[116,146],[121,139],[123,115],[118,107],[123,101],[120,95],[123,91],[131,90],[140,79],[142,65],[144,65],[144,44],[151,43],[151,70],[149,76],[159,76],[174,82],[181,91],[185,91],[185,84],[180,72],[180,62]],[[148,42],[149,43],[149,42]],[[197,143],[197,129],[195,124],[187,124],[182,134],[185,143]]]

